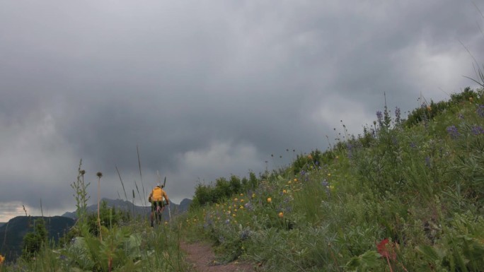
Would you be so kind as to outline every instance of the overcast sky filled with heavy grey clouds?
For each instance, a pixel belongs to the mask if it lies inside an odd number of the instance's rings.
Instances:
[[[90,204],[98,171],[125,198],[115,166],[179,203],[361,133],[384,93],[447,99],[484,63],[476,2],[0,0],[0,222],[74,211],[81,159]]]

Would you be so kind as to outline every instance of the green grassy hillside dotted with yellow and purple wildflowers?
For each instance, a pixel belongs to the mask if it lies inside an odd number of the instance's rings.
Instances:
[[[199,184],[185,232],[262,271],[483,271],[483,90],[402,118],[384,109],[291,167]]]

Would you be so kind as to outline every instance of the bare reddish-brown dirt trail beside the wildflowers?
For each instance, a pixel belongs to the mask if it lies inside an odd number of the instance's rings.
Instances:
[[[209,244],[180,242],[180,249],[187,253],[187,259],[197,272],[255,272],[253,265],[234,261],[230,264],[217,264],[215,254]]]

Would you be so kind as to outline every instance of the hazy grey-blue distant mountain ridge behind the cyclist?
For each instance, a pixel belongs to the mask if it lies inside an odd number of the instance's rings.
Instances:
[[[115,207],[116,209],[121,209],[123,211],[129,211],[130,213],[134,213],[134,216],[138,216],[138,215],[148,216],[150,213],[150,206],[137,206],[137,205],[134,205],[132,202],[125,201],[122,199],[103,198],[101,199],[101,201],[106,201],[106,204],[110,208]],[[169,209],[166,208],[165,211],[163,211],[163,218],[166,218],[168,220],[170,218],[170,213],[173,216],[173,215],[177,215],[180,213],[184,213],[185,211],[188,211],[188,207],[190,206],[190,203],[192,203],[191,199],[183,199],[180,202],[180,204],[175,204],[170,201]],[[87,211],[89,213],[97,212],[98,204],[96,203],[91,206],[88,206]],[[62,216],[76,219],[76,211],[66,212]]]

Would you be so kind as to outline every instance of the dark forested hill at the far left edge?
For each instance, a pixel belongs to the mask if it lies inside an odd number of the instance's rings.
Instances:
[[[0,226],[0,254],[6,256],[8,261],[21,256],[23,237],[33,232],[34,222],[38,218],[44,218],[49,240],[56,242],[76,222],[63,216],[17,216],[8,220],[8,223]]]

